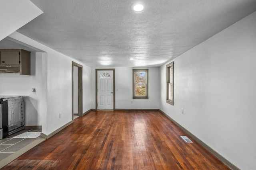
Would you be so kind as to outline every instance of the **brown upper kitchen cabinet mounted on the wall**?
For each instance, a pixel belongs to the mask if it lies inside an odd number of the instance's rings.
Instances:
[[[0,49],[0,73],[19,72],[30,75],[30,52],[22,49]]]

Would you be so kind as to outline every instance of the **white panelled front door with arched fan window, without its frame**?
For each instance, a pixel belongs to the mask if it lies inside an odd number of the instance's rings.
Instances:
[[[97,71],[98,110],[114,109],[113,70]]]

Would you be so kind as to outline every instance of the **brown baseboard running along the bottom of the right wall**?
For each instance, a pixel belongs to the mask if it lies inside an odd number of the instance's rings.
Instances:
[[[226,158],[224,158],[223,156],[221,156],[218,152],[216,152],[214,149],[212,149],[211,147],[209,147],[208,145],[206,145],[206,143],[204,143],[203,141],[201,141],[198,137],[196,137],[195,135],[193,135],[190,131],[188,131],[187,129],[185,129],[184,127],[182,127],[182,125],[180,125],[178,122],[176,122],[174,119],[172,119],[170,116],[168,116],[166,113],[164,113],[164,111],[160,110],[159,111],[161,113],[163,113],[168,119],[170,119],[173,123],[175,123],[178,127],[180,127],[183,131],[185,131],[188,135],[190,135],[196,142],[198,142],[200,145],[202,145],[206,150],[208,150],[209,152],[211,152],[218,160],[220,160],[221,162],[223,162],[224,164],[226,164],[226,166],[228,166],[229,168],[231,168],[232,170],[240,170],[238,167],[236,167],[234,164],[232,164],[231,162],[229,162]]]

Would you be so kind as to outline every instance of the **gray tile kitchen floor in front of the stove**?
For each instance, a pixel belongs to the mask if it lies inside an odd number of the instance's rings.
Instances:
[[[41,132],[41,129],[24,129],[0,140],[0,161],[39,138],[13,138],[28,131]]]

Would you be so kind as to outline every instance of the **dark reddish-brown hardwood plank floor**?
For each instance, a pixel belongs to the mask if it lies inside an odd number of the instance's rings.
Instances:
[[[91,111],[2,169],[229,170],[159,111]]]

